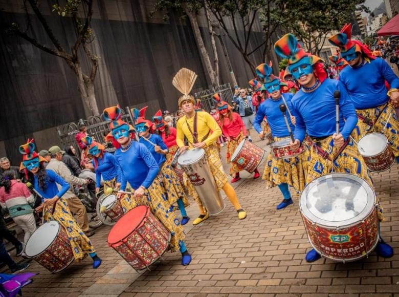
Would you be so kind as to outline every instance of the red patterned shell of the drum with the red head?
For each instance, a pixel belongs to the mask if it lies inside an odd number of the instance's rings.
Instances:
[[[120,242],[108,244],[131,267],[142,270],[162,256],[169,246],[170,237],[168,229],[151,213],[147,206],[146,215],[136,229]]]

